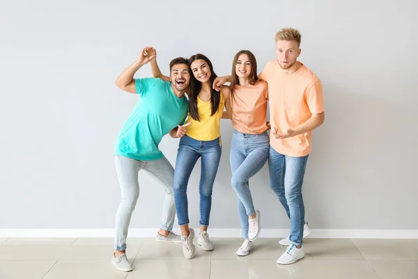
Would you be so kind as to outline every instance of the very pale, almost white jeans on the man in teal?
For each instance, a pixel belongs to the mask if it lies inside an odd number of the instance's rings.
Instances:
[[[166,195],[162,206],[160,228],[167,231],[173,229],[174,218],[176,218],[176,206],[173,195],[174,169],[165,157],[151,161],[134,160],[123,156],[114,157],[122,194],[121,203],[116,213],[114,248],[122,251],[126,249],[127,229],[139,197],[138,172],[141,169],[148,172],[164,187]]]

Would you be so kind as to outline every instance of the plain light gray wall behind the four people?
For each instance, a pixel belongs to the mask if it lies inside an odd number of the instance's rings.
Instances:
[[[114,141],[138,100],[114,81],[153,45],[164,73],[176,56],[206,54],[218,75],[249,49],[274,59],[281,27],[302,32],[305,63],[323,81],[326,120],[314,133],[304,183],[318,229],[418,229],[416,1],[6,1],[0,6],[0,229],[111,228],[120,192]],[[415,27],[415,36],[413,36]],[[137,77],[150,75],[144,66]],[[230,186],[232,126],[211,227],[238,228]],[[161,149],[175,163],[178,140]],[[192,226],[197,184],[189,183]],[[157,227],[162,188],[140,174],[131,227]],[[251,180],[263,228],[288,227],[268,187]]]

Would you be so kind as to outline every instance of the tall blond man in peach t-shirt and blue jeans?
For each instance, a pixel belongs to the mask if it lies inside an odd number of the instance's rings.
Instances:
[[[277,259],[279,264],[293,264],[304,257],[302,238],[304,229],[310,229],[304,222],[302,183],[311,152],[312,130],[325,119],[322,84],[297,61],[300,38],[296,29],[277,32],[277,60],[268,62],[259,75],[268,82],[270,98],[270,188],[291,219],[291,234],[280,241],[288,248]]]

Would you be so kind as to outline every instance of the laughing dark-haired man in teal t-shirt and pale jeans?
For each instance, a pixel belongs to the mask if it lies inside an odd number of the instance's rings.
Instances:
[[[125,255],[127,229],[139,196],[138,172],[141,169],[155,176],[166,192],[157,241],[181,242],[173,229],[176,207],[173,195],[174,169],[158,144],[170,133],[183,133],[188,110],[185,91],[189,86],[187,59],[176,58],[170,63],[170,80],[158,78],[134,79],[134,73],[151,61],[155,63],[153,47],[145,47],[141,55],[116,80],[116,85],[129,93],[138,93],[139,102],[118,135],[114,146],[116,172],[121,186],[121,204],[116,213],[116,236],[112,263],[121,271],[132,271]],[[179,129],[178,129],[179,128]]]

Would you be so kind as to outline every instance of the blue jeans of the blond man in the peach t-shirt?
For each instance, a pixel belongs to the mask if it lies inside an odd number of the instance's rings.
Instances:
[[[268,167],[270,170],[270,188],[279,197],[291,219],[290,242],[302,245],[304,225],[304,204],[302,183],[307,167],[308,155],[304,157],[285,156],[270,146]]]

